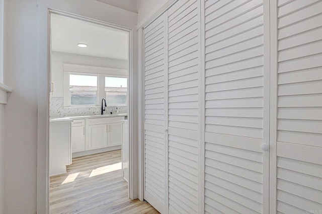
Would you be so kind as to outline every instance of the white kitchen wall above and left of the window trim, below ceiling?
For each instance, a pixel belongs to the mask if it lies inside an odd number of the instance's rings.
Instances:
[[[63,64],[89,65],[127,69],[127,60],[77,55],[71,53],[51,52],[51,82],[54,84],[52,97],[63,97]]]

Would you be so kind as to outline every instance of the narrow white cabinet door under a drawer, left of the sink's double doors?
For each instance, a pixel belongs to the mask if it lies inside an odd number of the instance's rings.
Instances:
[[[71,127],[71,152],[85,151],[85,126]]]

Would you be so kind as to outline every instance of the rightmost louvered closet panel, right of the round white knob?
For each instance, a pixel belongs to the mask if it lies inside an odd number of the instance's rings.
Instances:
[[[277,7],[277,201],[272,209],[322,213],[322,1],[278,1]]]

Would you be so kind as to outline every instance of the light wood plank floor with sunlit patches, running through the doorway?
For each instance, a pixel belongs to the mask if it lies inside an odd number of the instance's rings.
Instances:
[[[121,150],[73,158],[67,174],[50,177],[50,214],[159,213],[130,200],[122,177]]]

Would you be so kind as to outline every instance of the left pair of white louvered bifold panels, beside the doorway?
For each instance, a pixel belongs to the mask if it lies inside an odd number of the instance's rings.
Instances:
[[[198,213],[198,2],[144,28],[145,191],[162,213]]]

